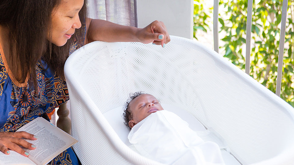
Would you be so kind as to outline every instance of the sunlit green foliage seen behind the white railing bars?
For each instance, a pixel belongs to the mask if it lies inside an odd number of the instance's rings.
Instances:
[[[197,0],[205,3],[205,0]],[[194,0],[195,2],[195,0]],[[219,14],[220,33],[225,33],[220,38],[224,45],[224,57],[227,57],[233,64],[245,71],[245,45],[246,45],[246,23],[247,23],[247,0],[220,0]],[[197,6],[196,6],[197,8]],[[198,7],[199,8],[199,7]],[[205,14],[195,10],[195,17],[203,17]],[[280,44],[281,11],[282,0],[253,0],[251,26],[251,67],[250,76],[266,86],[272,92],[276,91],[277,61]],[[207,18],[207,16],[205,17]],[[207,21],[207,20],[206,20]],[[202,23],[201,27],[206,28],[208,22]],[[199,26],[194,21],[194,26]],[[195,33],[194,28],[194,33]],[[281,98],[294,106],[294,0],[288,0],[288,15],[286,22],[285,49],[283,58],[283,75]]]

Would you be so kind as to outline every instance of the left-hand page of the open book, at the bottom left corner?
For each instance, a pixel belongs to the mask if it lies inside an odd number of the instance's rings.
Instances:
[[[36,165],[32,160],[16,151],[9,150],[9,152],[10,154],[6,155],[0,151],[0,165]]]

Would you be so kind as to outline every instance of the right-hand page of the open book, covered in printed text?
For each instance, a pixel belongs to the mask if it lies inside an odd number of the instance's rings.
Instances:
[[[77,143],[72,136],[49,123],[42,117],[32,120],[17,131],[25,131],[38,137],[37,140],[25,139],[36,146],[36,149],[23,148],[37,165],[49,163],[58,154]]]

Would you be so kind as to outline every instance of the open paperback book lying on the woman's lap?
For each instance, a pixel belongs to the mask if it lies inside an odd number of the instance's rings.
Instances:
[[[58,154],[77,143],[72,136],[42,117],[32,120],[17,131],[25,131],[37,136],[37,140],[25,139],[34,144],[36,149],[23,148],[29,153],[28,157],[11,150],[9,155],[0,151],[0,165],[46,165]]]

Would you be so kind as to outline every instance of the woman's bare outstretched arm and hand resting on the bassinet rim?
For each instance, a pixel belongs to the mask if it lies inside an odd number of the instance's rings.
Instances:
[[[92,41],[106,42],[153,42],[164,46],[170,41],[167,29],[163,22],[154,21],[145,28],[123,26],[112,22],[87,18],[87,32],[85,44]]]

